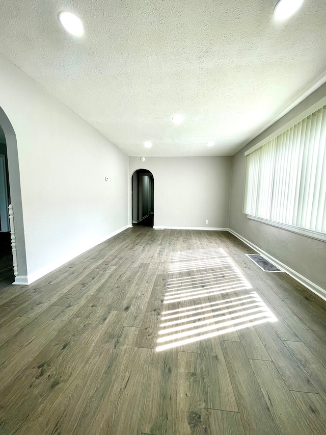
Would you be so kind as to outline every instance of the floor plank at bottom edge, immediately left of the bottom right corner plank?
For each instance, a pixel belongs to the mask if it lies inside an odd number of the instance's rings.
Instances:
[[[280,434],[313,435],[274,363],[258,360],[250,363]]]

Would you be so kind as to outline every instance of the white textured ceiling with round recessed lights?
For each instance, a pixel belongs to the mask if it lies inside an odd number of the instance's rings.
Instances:
[[[276,3],[1,0],[0,52],[129,156],[233,155],[326,81],[325,0]]]

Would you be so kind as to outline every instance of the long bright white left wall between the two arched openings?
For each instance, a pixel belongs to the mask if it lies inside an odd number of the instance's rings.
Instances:
[[[17,138],[26,275],[34,280],[128,224],[128,158],[7,59],[0,65],[0,107]],[[8,160],[10,170],[9,150]]]

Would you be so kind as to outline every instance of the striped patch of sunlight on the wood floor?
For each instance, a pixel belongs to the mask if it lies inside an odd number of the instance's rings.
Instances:
[[[157,351],[277,321],[223,249],[175,252],[169,273]]]

